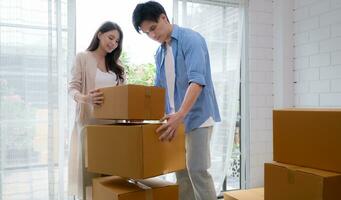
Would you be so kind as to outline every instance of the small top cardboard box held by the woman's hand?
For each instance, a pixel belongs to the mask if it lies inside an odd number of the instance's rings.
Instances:
[[[100,119],[159,120],[165,113],[165,90],[143,85],[122,85],[100,89],[104,103],[94,107]]]

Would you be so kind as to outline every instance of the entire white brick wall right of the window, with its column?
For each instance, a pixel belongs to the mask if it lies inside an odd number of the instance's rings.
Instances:
[[[263,186],[274,107],[341,106],[341,0],[249,0],[250,169]]]

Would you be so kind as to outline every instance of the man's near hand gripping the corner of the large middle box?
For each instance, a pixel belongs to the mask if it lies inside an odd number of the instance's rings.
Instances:
[[[176,135],[176,130],[183,122],[183,119],[184,115],[180,112],[164,116],[160,121],[167,120],[167,123],[162,124],[158,129],[156,129],[156,132],[160,134],[159,140],[172,141]]]

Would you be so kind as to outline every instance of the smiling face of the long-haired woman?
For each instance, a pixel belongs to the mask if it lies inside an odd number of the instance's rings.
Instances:
[[[107,53],[111,53],[116,49],[120,41],[120,33],[117,30],[107,31],[98,34],[99,46]]]

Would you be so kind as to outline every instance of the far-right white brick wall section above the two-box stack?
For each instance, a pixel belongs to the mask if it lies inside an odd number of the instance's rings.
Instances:
[[[341,0],[295,0],[295,106],[341,106]]]

